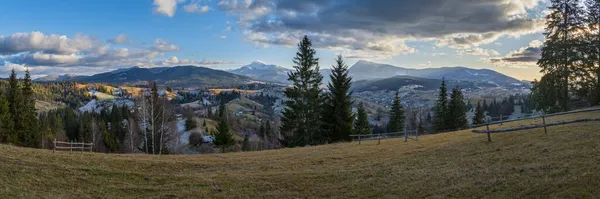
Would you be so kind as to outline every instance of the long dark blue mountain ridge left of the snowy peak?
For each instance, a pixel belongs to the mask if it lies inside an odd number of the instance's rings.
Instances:
[[[36,81],[79,81],[113,84],[156,81],[168,86],[220,86],[254,81],[252,78],[199,66],[174,66],[157,68],[122,68],[92,76],[46,76]]]

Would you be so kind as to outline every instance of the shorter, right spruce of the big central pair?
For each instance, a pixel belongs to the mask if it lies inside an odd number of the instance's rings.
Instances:
[[[348,66],[342,56],[337,57],[333,66],[331,82],[327,85],[329,93],[323,104],[323,134],[330,142],[350,141],[352,133],[352,78],[348,75]]]

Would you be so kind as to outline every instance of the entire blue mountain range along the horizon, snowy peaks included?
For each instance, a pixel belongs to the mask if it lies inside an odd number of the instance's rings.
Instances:
[[[358,61],[349,69],[349,74],[358,90],[375,88],[390,89],[407,84],[420,85],[421,89],[436,89],[441,79],[455,83],[463,88],[478,87],[511,87],[529,86],[528,83],[488,69],[471,69],[466,67],[442,68],[403,68],[389,64],[369,61]],[[287,83],[288,72],[292,69],[254,61],[246,66],[233,70],[215,70],[198,66],[174,66],[156,68],[122,68],[92,76],[51,75],[36,81],[80,81],[105,82],[113,84],[134,83],[139,81],[156,81],[169,86],[223,86],[237,85],[254,80]],[[330,69],[321,69],[323,84],[329,82]]]

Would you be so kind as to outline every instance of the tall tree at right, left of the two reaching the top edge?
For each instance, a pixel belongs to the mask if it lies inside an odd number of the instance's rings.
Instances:
[[[542,57],[538,65],[541,72],[551,75],[553,82],[544,82],[538,86],[548,86],[556,90],[555,98],[560,110],[569,109],[569,89],[579,81],[577,74],[582,55],[581,38],[578,32],[583,27],[583,9],[579,0],[551,0],[550,14],[546,16],[546,40],[542,46]],[[548,80],[542,78],[542,81]],[[552,84],[550,84],[552,83]]]

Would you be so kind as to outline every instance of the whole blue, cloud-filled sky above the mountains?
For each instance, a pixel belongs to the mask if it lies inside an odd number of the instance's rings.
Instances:
[[[349,66],[465,66],[533,80],[548,1],[9,0],[0,6],[0,77],[257,60],[290,68],[308,35],[321,68],[341,54]]]

